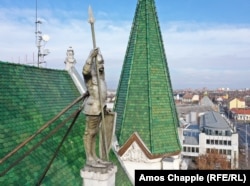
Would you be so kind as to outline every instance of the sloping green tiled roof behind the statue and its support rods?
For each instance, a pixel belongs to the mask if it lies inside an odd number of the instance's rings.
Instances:
[[[1,159],[80,96],[67,71],[1,61],[0,87]],[[75,105],[17,153],[1,163],[0,174],[43,140],[81,104]],[[0,185],[36,185],[71,122],[72,119],[1,176]],[[82,185],[80,169],[86,159],[82,138],[84,127],[85,117],[80,114],[41,185]],[[114,154],[110,160],[118,166],[116,182],[132,185]]]

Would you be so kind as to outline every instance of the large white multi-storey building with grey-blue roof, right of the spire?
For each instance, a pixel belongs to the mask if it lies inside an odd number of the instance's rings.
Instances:
[[[235,127],[219,112],[208,111],[197,115],[197,122],[186,121],[180,129],[183,158],[193,160],[215,150],[226,155],[231,168],[237,169],[239,142]]]

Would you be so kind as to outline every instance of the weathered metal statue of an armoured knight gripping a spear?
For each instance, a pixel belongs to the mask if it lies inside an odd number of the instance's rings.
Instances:
[[[96,60],[96,61],[95,61]],[[99,82],[97,76],[99,71]],[[89,96],[84,101],[83,112],[86,115],[84,147],[86,164],[92,167],[105,167],[105,163],[96,155],[96,137],[102,120],[101,109],[106,108],[107,86],[105,82],[104,61],[99,49],[90,52],[82,71]],[[98,85],[99,83],[99,85]],[[100,92],[99,92],[100,87]],[[101,95],[101,99],[99,98]],[[101,102],[102,101],[102,102]],[[103,106],[103,108],[101,108]]]

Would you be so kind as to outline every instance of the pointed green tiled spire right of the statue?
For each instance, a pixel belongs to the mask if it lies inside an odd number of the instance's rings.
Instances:
[[[154,0],[138,0],[114,110],[120,146],[137,132],[152,155],[181,150],[179,121]]]

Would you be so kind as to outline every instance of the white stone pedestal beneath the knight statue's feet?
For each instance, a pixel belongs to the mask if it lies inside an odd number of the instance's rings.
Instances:
[[[83,178],[83,186],[115,186],[115,174],[117,166],[109,165],[105,168],[85,166],[80,174]]]

